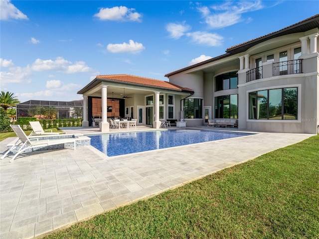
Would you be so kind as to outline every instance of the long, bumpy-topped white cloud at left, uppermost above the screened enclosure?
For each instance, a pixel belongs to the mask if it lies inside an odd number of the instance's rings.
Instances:
[[[36,59],[35,62],[32,64],[32,70],[52,70],[63,73],[78,73],[92,71],[92,69],[88,67],[84,61],[78,61],[73,64],[72,62],[65,60],[63,57],[57,57],[55,60]]]

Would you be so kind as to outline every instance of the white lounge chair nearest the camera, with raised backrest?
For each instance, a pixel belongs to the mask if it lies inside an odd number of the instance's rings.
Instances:
[[[57,139],[41,139],[38,138],[29,138],[26,136],[20,125],[10,124],[11,128],[15,132],[16,136],[18,136],[18,140],[15,140],[14,143],[9,143],[7,146],[10,147],[1,157],[1,159],[5,158],[9,152],[15,153],[10,163],[14,161],[16,156],[20,153],[23,153],[26,150],[33,149],[33,148],[41,148],[50,145],[57,145],[57,144],[64,144],[64,143],[73,143],[74,150],[76,146],[75,138],[57,138]]]

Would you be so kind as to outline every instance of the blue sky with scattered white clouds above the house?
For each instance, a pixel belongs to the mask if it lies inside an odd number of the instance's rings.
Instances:
[[[0,0],[0,88],[72,101],[97,75],[166,73],[319,13],[318,0]]]

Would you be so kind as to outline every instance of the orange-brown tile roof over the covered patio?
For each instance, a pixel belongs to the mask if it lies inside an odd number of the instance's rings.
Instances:
[[[169,90],[175,90],[175,91],[186,91],[186,92],[193,92],[193,90],[189,88],[184,88],[181,86],[177,86],[175,84],[172,84],[168,81],[161,81],[161,80],[155,80],[151,78],[145,78],[140,76],[132,76],[132,75],[100,75],[96,77],[97,79],[106,79],[106,80],[112,80],[112,81],[121,81],[136,85],[143,85],[143,86],[150,86],[150,87],[156,87],[156,88],[165,88]]]

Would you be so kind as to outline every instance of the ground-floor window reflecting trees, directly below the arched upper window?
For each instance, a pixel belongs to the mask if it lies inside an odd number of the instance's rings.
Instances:
[[[238,95],[215,97],[215,118],[238,118]]]

